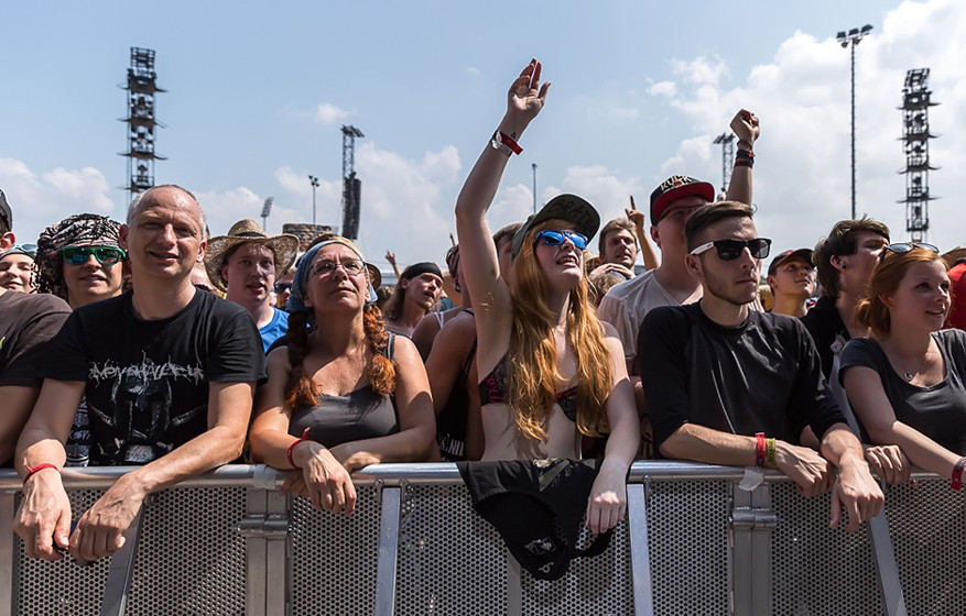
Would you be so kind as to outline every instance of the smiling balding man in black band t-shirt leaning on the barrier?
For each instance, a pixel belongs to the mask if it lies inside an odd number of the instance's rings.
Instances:
[[[57,547],[84,560],[109,556],[148,494],[240,455],[264,355],[243,308],[191,283],[204,228],[187,190],[143,193],[120,229],[133,292],[78,308],[51,343],[15,458],[24,487],[13,528],[28,556],[57,560]],[[68,537],[70,504],[58,471],[82,396],[91,464],[143,465],[121,476]]]

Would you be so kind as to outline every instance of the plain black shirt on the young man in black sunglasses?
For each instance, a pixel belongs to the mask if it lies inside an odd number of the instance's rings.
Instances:
[[[845,418],[825,386],[815,344],[793,317],[750,311],[738,328],[701,302],[655,308],[638,339],[644,397],[660,447],[684,424],[797,443]]]

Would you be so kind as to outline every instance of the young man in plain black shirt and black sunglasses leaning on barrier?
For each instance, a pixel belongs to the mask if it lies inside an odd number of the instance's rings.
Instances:
[[[805,496],[831,491],[832,526],[844,506],[854,531],[879,514],[882,492],[801,321],[749,308],[771,244],[751,217],[749,206],[730,201],[692,215],[685,262],[702,299],[655,308],[641,326],[654,442],[664,458],[777,468]],[[806,427],[822,455],[799,444]]]

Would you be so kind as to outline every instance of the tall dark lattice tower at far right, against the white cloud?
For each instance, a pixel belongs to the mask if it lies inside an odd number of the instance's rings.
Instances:
[[[929,172],[938,167],[930,166],[929,140],[936,135],[930,133],[929,108],[936,102],[930,101],[926,87],[929,68],[913,68],[905,74],[905,87],[902,88],[902,141],[905,150],[905,230],[913,242],[922,242],[929,232],[929,202],[936,199],[930,195]]]

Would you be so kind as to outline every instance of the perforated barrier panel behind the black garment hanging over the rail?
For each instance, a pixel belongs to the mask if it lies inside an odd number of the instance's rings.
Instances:
[[[409,496],[400,534],[397,613],[504,613],[507,551],[492,526],[474,513],[466,487],[419,486]],[[588,543],[587,535],[578,544]],[[562,580],[535,580],[523,571],[521,583],[524,615],[632,614],[627,524],[616,529],[607,551],[574,560]]]

